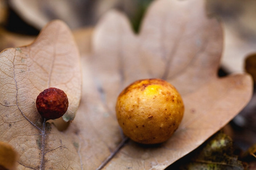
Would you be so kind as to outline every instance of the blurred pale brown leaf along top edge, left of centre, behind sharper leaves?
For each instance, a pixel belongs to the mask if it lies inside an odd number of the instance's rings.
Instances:
[[[43,28],[52,19],[61,19],[73,29],[95,24],[104,12],[117,6],[119,1],[76,0],[76,3],[73,3],[69,0],[10,0],[9,5],[20,18],[38,29]]]

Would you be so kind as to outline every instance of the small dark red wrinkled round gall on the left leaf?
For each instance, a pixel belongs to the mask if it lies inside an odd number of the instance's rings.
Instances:
[[[60,118],[68,110],[68,97],[59,88],[47,88],[36,98],[36,108],[46,120]]]

